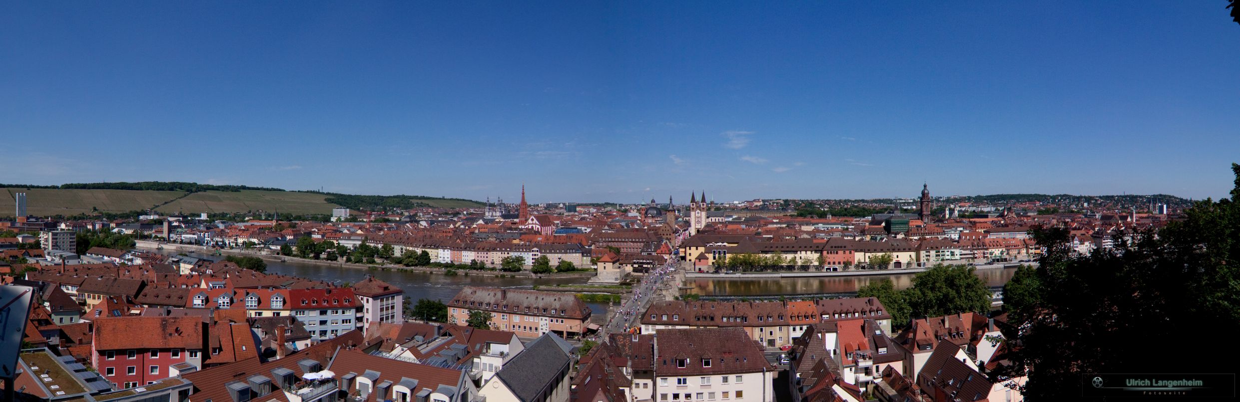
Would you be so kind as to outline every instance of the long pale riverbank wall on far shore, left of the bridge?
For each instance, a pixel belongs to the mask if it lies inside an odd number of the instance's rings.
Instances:
[[[299,259],[299,257],[286,257],[281,255],[262,254],[253,251],[242,250],[215,250],[203,246],[195,245],[182,245],[182,244],[169,244],[149,240],[138,240],[138,249],[164,249],[164,250],[176,250],[185,252],[200,252],[200,254],[215,254],[228,256],[244,256],[244,257],[259,257],[264,261],[279,261],[279,262],[300,262],[310,265],[321,265],[330,267],[345,267],[345,268],[357,268],[357,270],[383,270],[383,271],[402,271],[402,272],[425,272],[425,273],[439,273],[446,275],[448,268],[435,268],[435,267],[407,267],[402,265],[370,265],[370,263],[352,263],[342,261],[325,261],[325,260],[311,260],[311,259]],[[454,270],[456,275],[469,275],[469,276],[495,276],[495,277],[526,277],[526,278],[589,278],[594,277],[594,271],[583,272],[559,272],[559,273],[544,273],[536,275],[529,271],[521,272],[500,272],[500,271],[470,271],[470,270]]]

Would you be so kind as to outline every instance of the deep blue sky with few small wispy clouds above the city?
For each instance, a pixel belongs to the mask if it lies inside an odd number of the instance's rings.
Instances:
[[[10,1],[0,182],[1218,198],[1225,5]]]

